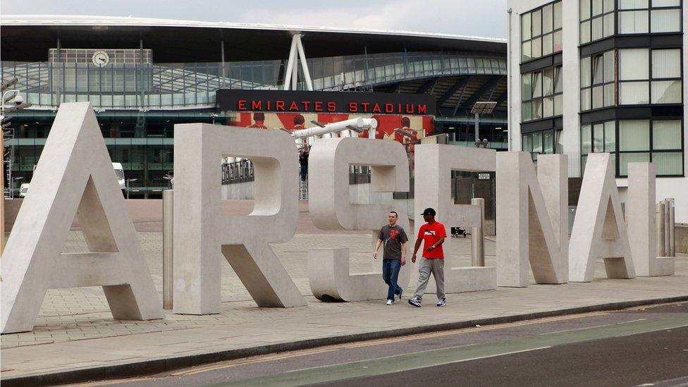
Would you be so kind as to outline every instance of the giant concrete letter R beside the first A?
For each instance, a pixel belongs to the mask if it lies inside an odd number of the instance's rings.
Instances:
[[[260,307],[306,305],[268,245],[286,242],[296,231],[293,137],[200,123],[175,125],[174,131],[174,312],[220,312],[222,255]],[[254,165],[256,197],[247,216],[222,214],[223,156]]]

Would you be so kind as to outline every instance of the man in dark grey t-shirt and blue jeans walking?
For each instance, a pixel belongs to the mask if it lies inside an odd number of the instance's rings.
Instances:
[[[401,294],[404,292],[404,289],[397,285],[397,279],[401,266],[406,264],[406,242],[408,237],[404,229],[398,226],[398,214],[395,211],[391,211],[387,219],[389,223],[382,226],[380,233],[377,235],[373,258],[377,259],[377,250],[384,243],[382,279],[389,285],[387,305],[393,305],[394,296],[399,295],[399,300],[401,300]]]

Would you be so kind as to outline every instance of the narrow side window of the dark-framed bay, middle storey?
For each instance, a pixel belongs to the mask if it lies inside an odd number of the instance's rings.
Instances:
[[[614,51],[581,59],[581,111],[616,104],[615,69]]]

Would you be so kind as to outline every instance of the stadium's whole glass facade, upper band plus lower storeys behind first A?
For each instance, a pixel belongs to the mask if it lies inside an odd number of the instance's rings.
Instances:
[[[229,123],[216,109],[221,88],[279,89],[286,61],[151,63],[149,50],[51,49],[47,62],[0,63],[2,80],[18,79],[30,109],[13,114],[13,176],[30,181],[60,102],[91,102],[113,162],[123,164],[130,197],[159,197],[173,169],[175,123]],[[121,52],[120,52],[121,51]],[[59,54],[59,55],[58,55]],[[504,57],[410,52],[307,59],[316,90],[359,90],[442,75],[506,75]],[[305,89],[300,82],[299,89]]]

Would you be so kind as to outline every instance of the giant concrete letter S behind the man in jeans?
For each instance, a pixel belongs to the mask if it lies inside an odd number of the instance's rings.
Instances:
[[[408,161],[400,143],[356,137],[318,140],[309,156],[308,178],[309,212],[315,225],[324,230],[374,230],[376,238],[388,211],[397,211],[399,225],[410,235],[408,214],[400,207],[350,203],[350,165],[371,166],[374,192],[409,190]],[[402,266],[399,274],[403,288],[410,266]],[[320,300],[325,295],[345,301],[375,300],[387,294],[379,273],[349,274],[348,249],[309,250],[308,276],[313,295]]]

